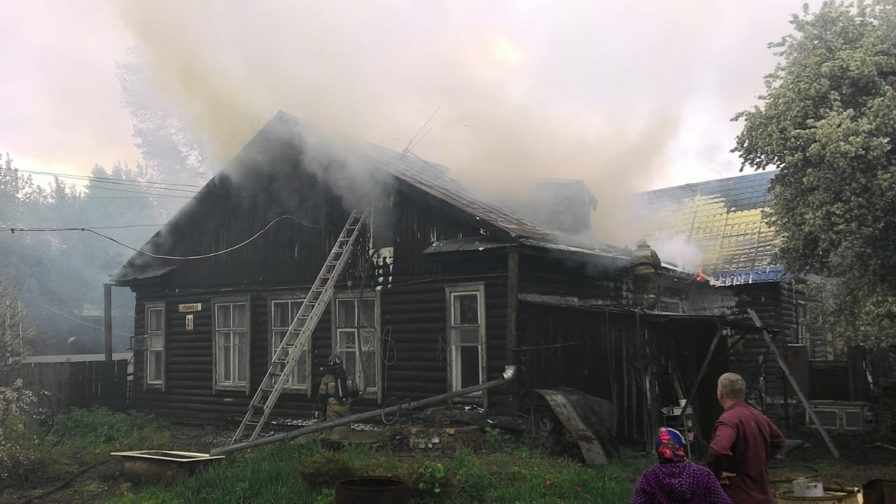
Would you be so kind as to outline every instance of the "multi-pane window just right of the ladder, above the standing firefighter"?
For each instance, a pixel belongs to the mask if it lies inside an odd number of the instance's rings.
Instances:
[[[333,352],[365,395],[380,396],[379,299],[375,293],[336,298]]]

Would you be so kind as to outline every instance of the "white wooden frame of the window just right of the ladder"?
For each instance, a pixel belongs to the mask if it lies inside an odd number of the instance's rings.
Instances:
[[[374,302],[374,327],[361,327],[359,326],[360,322],[358,321],[360,317],[360,310],[358,310],[358,300],[362,300],[366,302],[367,300],[373,300]],[[340,301],[355,301],[355,326],[354,327],[340,327],[339,326],[339,306]],[[383,333],[380,329],[380,296],[378,291],[364,291],[364,295],[362,296],[359,292],[340,292],[337,293],[333,297],[333,302],[331,303],[331,319],[332,319],[332,352],[339,354],[342,357],[342,360],[345,361],[345,356],[347,352],[355,352],[356,362],[360,361],[363,352],[366,351],[363,348],[363,345],[359,344],[359,333],[362,329],[368,329],[369,332],[373,333],[373,339],[371,343],[373,347],[370,348],[371,351],[375,352],[374,361],[376,362],[376,370],[375,370],[375,383],[366,383],[366,378],[361,376],[361,367],[358,366],[355,368],[355,382],[358,384],[359,390],[364,392],[364,397],[367,398],[376,398],[377,403],[383,402],[383,350],[382,350],[382,342],[380,341],[382,338],[380,337]],[[340,344],[340,334],[345,333],[354,333],[355,337],[355,345],[352,348],[346,348],[346,345]]]

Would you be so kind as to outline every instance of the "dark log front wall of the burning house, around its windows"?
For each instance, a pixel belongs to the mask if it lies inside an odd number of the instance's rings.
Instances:
[[[484,283],[488,378],[497,378],[504,370],[506,256],[503,253],[478,256],[476,267],[470,266],[469,258],[461,263],[452,260],[438,263],[438,269],[444,270],[444,274],[437,277],[394,276],[391,287],[380,291],[381,349],[386,361],[383,363],[385,402],[419,399],[447,390],[444,289],[459,283]],[[224,295],[249,296],[251,300],[250,390],[254,394],[268,369],[271,297],[282,298],[290,291],[297,289],[213,291],[204,294],[138,293],[135,314],[138,335],[145,334],[145,303],[159,300],[166,303],[166,387],[164,392],[142,387],[144,357],[143,352],[137,352],[134,358],[134,383],[137,384],[134,404],[154,413],[182,419],[237,421],[246,412],[250,397],[242,391],[212,389],[211,302]],[[177,313],[177,305],[185,303],[202,303],[202,310],[192,313],[193,331],[185,329],[186,314]],[[321,367],[332,352],[330,316],[331,311],[327,309],[314,332],[312,395],[323,378]],[[313,400],[309,400],[305,393],[284,393],[273,414],[308,418]],[[489,396],[489,401],[492,405],[501,406],[508,402],[508,398],[506,394],[496,393]],[[375,403],[373,399],[366,399],[358,407],[374,407]]]

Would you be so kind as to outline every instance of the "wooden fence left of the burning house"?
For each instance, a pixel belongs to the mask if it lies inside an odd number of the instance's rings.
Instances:
[[[111,365],[106,361],[24,363],[2,377],[0,385],[8,386],[22,378],[24,387],[48,392],[44,396],[56,412],[90,406],[124,410],[131,404],[127,362],[112,361]]]

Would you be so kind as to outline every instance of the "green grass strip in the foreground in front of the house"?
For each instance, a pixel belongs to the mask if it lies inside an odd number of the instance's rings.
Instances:
[[[412,502],[617,504],[630,498],[634,480],[648,465],[650,460],[627,456],[591,468],[525,448],[401,459],[353,446],[331,453],[301,441],[239,452],[174,485],[143,487],[108,502],[318,504],[332,502],[334,482],[341,478],[386,475],[409,482]]]

